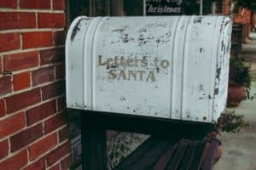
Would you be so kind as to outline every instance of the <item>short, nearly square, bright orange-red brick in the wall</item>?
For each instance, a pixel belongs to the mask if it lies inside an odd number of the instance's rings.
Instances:
[[[30,87],[30,72],[22,72],[14,75],[14,90],[21,90]]]

